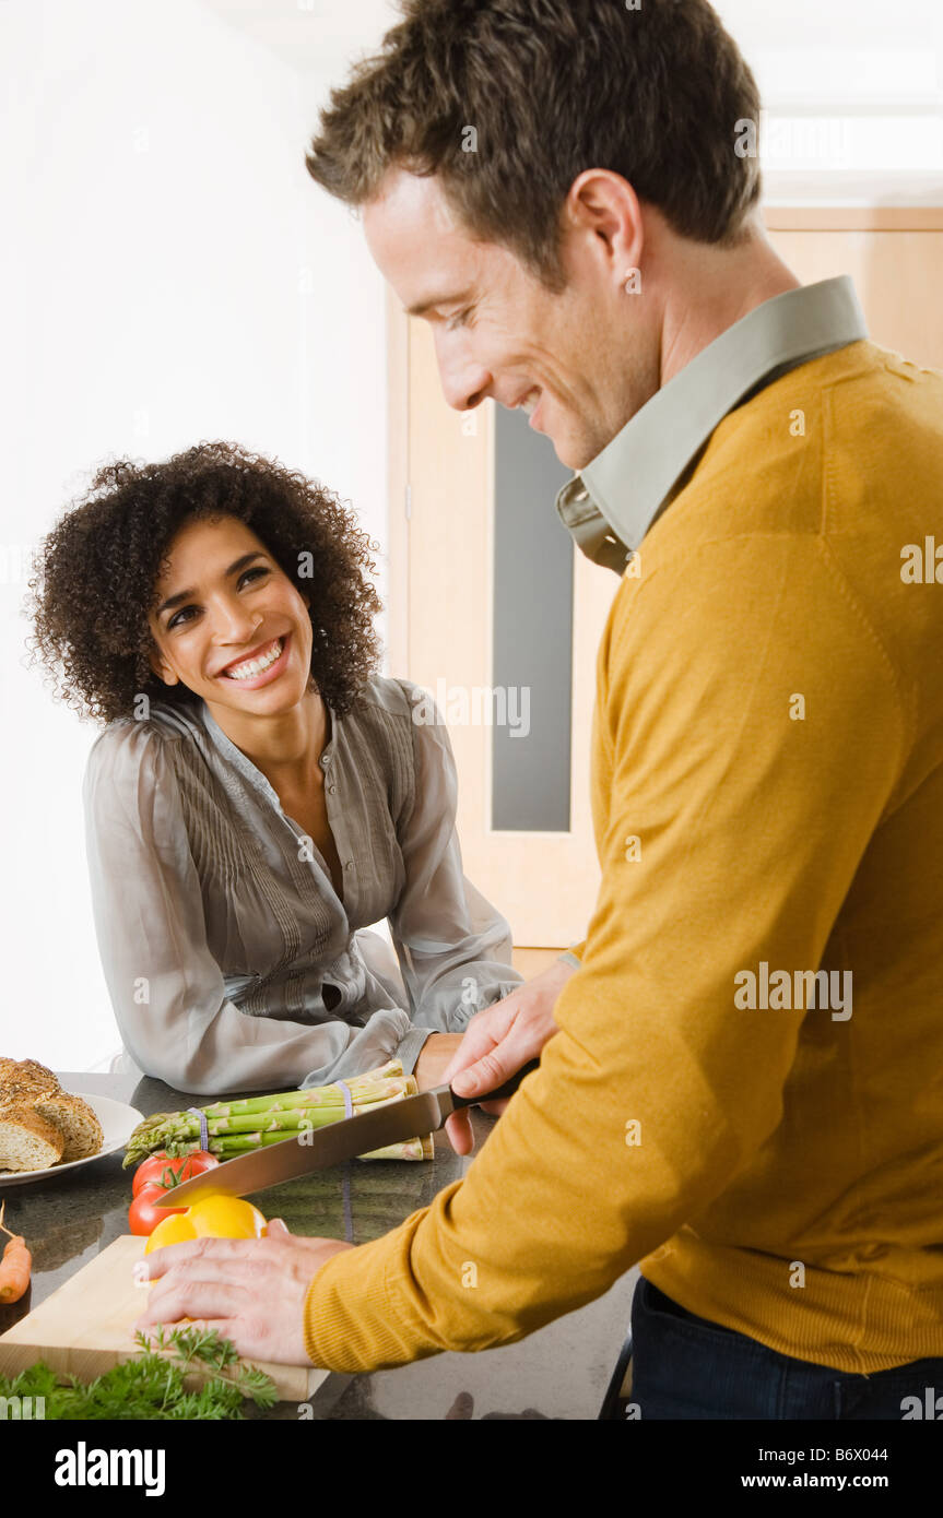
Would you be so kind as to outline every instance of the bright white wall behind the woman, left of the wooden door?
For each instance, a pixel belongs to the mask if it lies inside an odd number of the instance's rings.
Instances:
[[[325,88],[197,0],[0,6],[0,1055],[118,1047],[80,815],[97,729],[26,666],[24,550],[93,463],[211,437],[317,475],[386,543],[383,282],[304,167]]]

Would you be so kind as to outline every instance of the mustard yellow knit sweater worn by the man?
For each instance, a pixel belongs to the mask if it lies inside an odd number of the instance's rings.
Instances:
[[[800,1360],[943,1354],[943,375],[800,366],[639,557],[560,1031],[463,1181],[319,1269],[316,1365],[507,1343],[639,1261]]]

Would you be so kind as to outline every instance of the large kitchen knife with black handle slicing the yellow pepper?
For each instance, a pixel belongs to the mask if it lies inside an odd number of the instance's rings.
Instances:
[[[301,1129],[290,1138],[252,1149],[251,1154],[240,1154],[235,1160],[226,1160],[213,1170],[173,1186],[164,1196],[155,1198],[153,1205],[193,1207],[203,1196],[249,1196],[254,1192],[264,1192],[269,1186],[295,1181],[310,1170],[340,1164],[342,1160],[351,1160],[357,1154],[371,1154],[372,1149],[384,1149],[390,1143],[436,1132],[448,1114],[460,1107],[477,1107],[480,1102],[498,1102],[512,1096],[524,1076],[536,1070],[538,1064],[539,1060],[531,1060],[497,1091],[481,1096],[459,1096],[451,1085],[436,1085],[430,1091],[419,1091],[418,1096],[377,1105],[374,1111],[339,1117],[325,1128]]]

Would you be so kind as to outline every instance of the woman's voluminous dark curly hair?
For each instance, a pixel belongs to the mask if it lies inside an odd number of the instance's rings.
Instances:
[[[132,716],[141,695],[196,700],[153,674],[147,616],[176,533],[220,516],[244,522],[310,600],[311,677],[337,715],[349,712],[380,659],[372,619],[381,601],[366,574],[380,545],[322,484],[237,443],[203,442],[166,463],[100,465],[39,545],[29,581],[33,662],[80,716]]]

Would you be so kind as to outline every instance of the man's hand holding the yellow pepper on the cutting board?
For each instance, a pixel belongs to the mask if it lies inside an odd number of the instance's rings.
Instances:
[[[310,1365],[304,1301],[325,1260],[354,1245],[340,1239],[299,1239],[281,1217],[264,1239],[193,1239],[144,1257],[155,1286],[141,1293],[135,1328],[181,1318],[216,1328],[248,1360]]]

